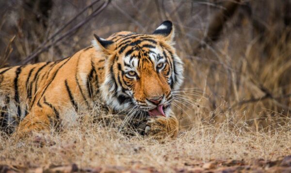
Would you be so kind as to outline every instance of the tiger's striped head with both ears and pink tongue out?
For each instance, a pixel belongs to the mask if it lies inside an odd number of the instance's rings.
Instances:
[[[100,90],[113,110],[168,116],[172,91],[183,81],[183,63],[173,38],[171,21],[164,21],[152,34],[122,31],[106,40],[95,35],[94,47],[107,57]]]

